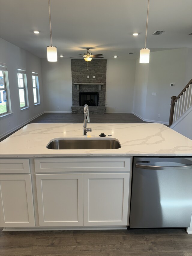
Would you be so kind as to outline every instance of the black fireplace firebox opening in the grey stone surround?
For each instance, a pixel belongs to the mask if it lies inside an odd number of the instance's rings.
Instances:
[[[98,106],[99,93],[98,92],[79,92],[79,106]]]

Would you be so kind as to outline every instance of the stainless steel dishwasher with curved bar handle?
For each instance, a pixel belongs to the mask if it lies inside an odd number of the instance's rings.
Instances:
[[[134,158],[130,227],[189,227],[192,158]]]

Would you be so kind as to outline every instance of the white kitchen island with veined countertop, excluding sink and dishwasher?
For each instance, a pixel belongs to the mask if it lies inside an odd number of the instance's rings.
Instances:
[[[92,132],[83,137],[82,124],[29,124],[0,143],[4,230],[126,228],[132,158],[192,156],[192,141],[162,124],[88,128]],[[101,133],[107,136],[99,137]],[[50,141],[63,138],[113,138],[121,147],[46,148]]]

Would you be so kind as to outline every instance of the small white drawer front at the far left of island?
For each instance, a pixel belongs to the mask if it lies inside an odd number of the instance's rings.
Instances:
[[[29,172],[29,159],[0,159],[0,173]]]

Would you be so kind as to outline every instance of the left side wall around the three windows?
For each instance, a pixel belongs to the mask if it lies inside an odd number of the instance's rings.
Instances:
[[[11,131],[21,127],[35,116],[40,115],[44,111],[43,107],[43,88],[41,79],[41,60],[31,53],[13,45],[0,38],[0,62],[7,64],[10,100],[12,114],[0,117],[0,137],[9,134]],[[19,90],[17,82],[17,66],[26,68],[27,87],[30,108],[26,110],[20,109]],[[40,100],[41,104],[34,106],[33,89],[32,89],[32,70],[38,72]],[[10,125],[9,125],[10,122]]]

